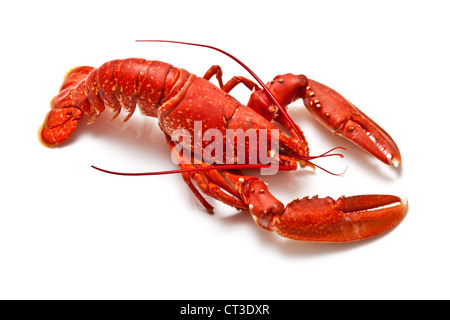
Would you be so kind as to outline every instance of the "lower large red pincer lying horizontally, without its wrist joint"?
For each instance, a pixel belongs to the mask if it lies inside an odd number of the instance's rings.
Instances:
[[[269,229],[283,237],[311,242],[351,242],[376,236],[397,225],[407,204],[391,195],[303,198],[274,216]]]

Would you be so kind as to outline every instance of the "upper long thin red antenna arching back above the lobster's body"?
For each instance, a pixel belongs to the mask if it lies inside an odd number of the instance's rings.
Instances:
[[[287,113],[287,111],[281,106],[281,104],[278,102],[278,100],[275,98],[275,96],[272,94],[272,92],[270,92],[269,88],[267,88],[267,86],[264,84],[264,82],[262,82],[262,80],[256,75],[256,73],[254,73],[249,67],[247,67],[246,64],[244,64],[241,60],[239,60],[238,58],[236,58],[235,56],[233,56],[232,54],[213,47],[213,46],[209,46],[206,44],[199,44],[199,43],[191,43],[191,42],[182,42],[182,41],[173,41],[173,40],[136,40],[136,42],[167,42],[167,43],[176,43],[176,44],[185,44],[188,46],[196,46],[196,47],[203,47],[203,48],[208,48],[208,49],[213,49],[216,51],[219,51],[220,53],[226,55],[227,57],[230,57],[231,59],[233,59],[234,61],[236,61],[238,64],[241,65],[241,67],[243,67],[245,70],[247,70],[248,73],[250,73],[252,75],[253,78],[255,78],[255,80],[259,83],[259,85],[267,92],[267,94],[270,96],[270,98],[272,99],[272,101],[277,105],[278,110],[280,110],[281,114],[283,115],[283,117],[289,122],[289,124],[291,125],[291,127],[293,128],[295,134],[297,135],[297,139],[301,139],[300,137],[302,136],[300,134],[299,129],[297,128],[297,125],[295,124],[294,120],[292,120],[292,118],[289,116],[289,114]]]

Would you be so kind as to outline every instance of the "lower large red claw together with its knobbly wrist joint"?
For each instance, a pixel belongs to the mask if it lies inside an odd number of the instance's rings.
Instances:
[[[404,217],[407,204],[392,195],[305,197],[284,205],[260,179],[249,179],[244,201],[255,222],[285,238],[309,242],[351,242],[392,229]]]

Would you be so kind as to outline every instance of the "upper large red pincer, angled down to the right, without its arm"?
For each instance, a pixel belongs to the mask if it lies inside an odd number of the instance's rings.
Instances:
[[[309,79],[303,100],[306,108],[335,134],[386,164],[400,166],[400,151],[389,134],[339,93]]]

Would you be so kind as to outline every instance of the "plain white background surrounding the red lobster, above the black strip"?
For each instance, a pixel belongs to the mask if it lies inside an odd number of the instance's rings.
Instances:
[[[6,4],[8,3],[8,4]],[[446,1],[14,1],[0,8],[0,298],[449,299]],[[170,39],[220,47],[268,81],[304,73],[350,99],[399,145],[390,168],[328,134],[301,102],[290,108],[311,153],[348,148],[321,171],[268,177],[284,203],[305,195],[406,197],[403,222],[351,244],[286,241],[248,212],[197,204],[154,119],[107,116],[45,148],[37,131],[66,71],[114,58],[162,60],[198,75],[249,75],[207,49],[135,43]],[[233,93],[243,103],[248,92]],[[137,112],[138,114],[138,112]]]

